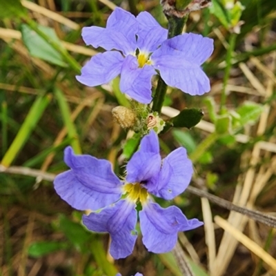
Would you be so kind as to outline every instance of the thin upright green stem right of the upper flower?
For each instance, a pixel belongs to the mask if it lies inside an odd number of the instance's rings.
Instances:
[[[230,70],[232,67],[232,55],[235,49],[237,34],[230,34],[229,46],[226,53],[226,68],[224,71],[224,84],[221,91],[220,112],[223,113],[224,106],[226,104],[226,86],[230,77]]]

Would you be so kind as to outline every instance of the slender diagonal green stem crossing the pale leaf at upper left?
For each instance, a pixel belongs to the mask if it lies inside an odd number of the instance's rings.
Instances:
[[[52,39],[50,39],[50,37],[48,37],[47,34],[45,34],[44,32],[42,32],[41,30],[39,30],[39,28],[37,27],[37,23],[35,23],[31,19],[28,19],[28,18],[24,17],[24,20],[28,23],[28,26],[32,30],[34,30],[34,32],[37,32],[37,34],[39,34],[40,37],[42,37],[47,43],[49,43],[50,46],[52,46],[53,49],[57,50],[57,52],[59,52],[61,54],[61,56],[63,57],[63,59],[65,61],[67,61],[67,63],[70,65],[70,67],[73,70],[75,70],[75,72],[77,72],[78,74],[80,74],[80,72],[81,72],[81,66],[79,65],[79,63],[77,61],[75,61],[75,59],[72,58],[68,54],[68,52],[60,46],[59,43],[57,43],[56,41],[53,41]]]

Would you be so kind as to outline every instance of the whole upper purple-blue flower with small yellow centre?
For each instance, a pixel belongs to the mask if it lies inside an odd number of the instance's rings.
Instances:
[[[135,18],[116,8],[106,28],[83,28],[86,44],[107,52],[92,57],[77,80],[98,86],[121,75],[121,92],[140,103],[152,100],[151,79],[157,72],[168,86],[190,95],[208,92],[210,82],[201,64],[213,52],[213,39],[192,33],[166,39],[167,34],[148,12]]]

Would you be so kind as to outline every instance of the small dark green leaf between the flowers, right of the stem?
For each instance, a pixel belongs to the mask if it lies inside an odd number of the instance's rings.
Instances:
[[[179,115],[170,119],[174,128],[193,128],[204,116],[204,112],[199,108],[186,108]]]

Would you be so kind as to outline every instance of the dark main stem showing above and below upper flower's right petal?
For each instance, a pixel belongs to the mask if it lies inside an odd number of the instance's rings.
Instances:
[[[187,19],[188,15],[182,18],[168,17],[168,39],[176,37],[177,35],[182,33]],[[167,88],[168,86],[166,85],[165,81],[159,76],[157,88],[153,97],[152,111],[157,111],[158,113],[161,112]]]

